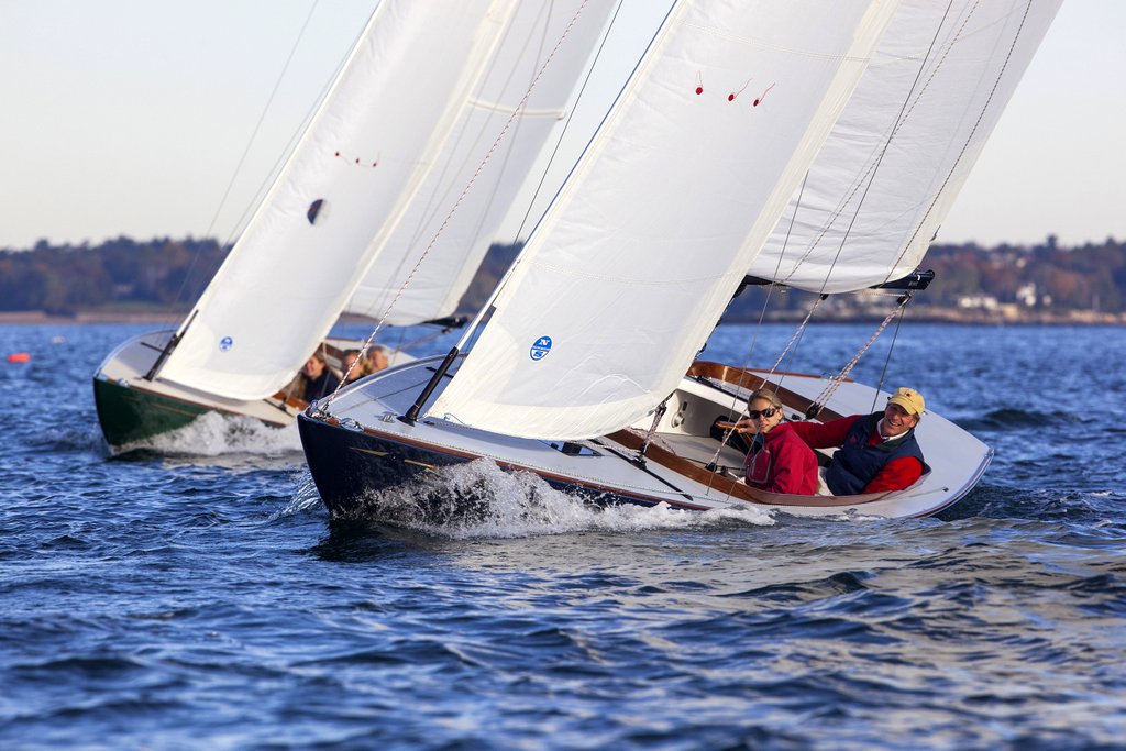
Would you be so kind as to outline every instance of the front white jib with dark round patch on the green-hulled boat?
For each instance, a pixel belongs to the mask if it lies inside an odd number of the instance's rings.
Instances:
[[[415,204],[435,199],[421,193],[432,185],[434,173],[458,176],[461,167],[443,160],[452,158],[450,144],[465,137],[464,127],[474,124],[466,111],[489,106],[493,91],[482,81],[507,73],[503,65],[513,50],[529,44],[520,36],[533,23],[527,12],[520,16],[522,27],[511,29],[517,10],[543,5],[383,0],[266,200],[200,297],[160,376],[243,400],[268,396],[286,384],[378,262],[403,218],[425,214]],[[544,37],[560,28],[569,10],[571,20],[581,3],[553,5],[554,12],[543,16],[551,19]],[[583,54],[589,54],[605,12],[588,18]],[[547,45],[545,55],[554,42],[538,41]],[[570,65],[571,83],[579,66]],[[533,72],[525,65],[511,74],[524,77],[527,88]],[[562,86],[558,80],[553,84]],[[480,162],[484,153],[479,147],[457,157]],[[507,199],[501,194],[498,203]]]

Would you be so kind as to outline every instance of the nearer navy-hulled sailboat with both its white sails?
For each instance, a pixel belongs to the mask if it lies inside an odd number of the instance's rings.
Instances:
[[[715,426],[754,390],[814,421],[890,394],[849,365],[696,358],[747,284],[899,287],[901,304],[924,286],[918,265],[1058,5],[672,5],[458,347],[298,417],[330,513],[377,513],[385,491],[476,459],[596,502],[692,510],[912,517],[965,497],[992,450],[932,411],[915,429],[929,468],[905,490],[748,486]]]

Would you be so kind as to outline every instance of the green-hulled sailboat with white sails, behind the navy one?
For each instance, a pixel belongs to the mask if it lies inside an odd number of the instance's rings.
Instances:
[[[306,404],[286,385],[311,352],[340,368],[345,350],[372,343],[328,338],[342,313],[381,325],[453,323],[529,169],[563,126],[611,9],[381,2],[179,329],[134,337],[99,366],[93,393],[108,444],[145,445],[207,412],[292,424]],[[556,48],[560,38],[566,45]],[[548,56],[544,86],[521,101]],[[458,196],[466,184],[475,190]],[[420,242],[439,226],[440,243]],[[430,265],[419,269],[423,254]],[[392,351],[391,365],[410,359]]]

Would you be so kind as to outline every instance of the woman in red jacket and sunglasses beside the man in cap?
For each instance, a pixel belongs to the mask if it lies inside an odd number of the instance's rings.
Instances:
[[[753,435],[747,453],[747,484],[771,493],[813,495],[817,490],[817,459],[813,449],[785,421],[781,400],[772,391],[757,391],[747,400],[747,417],[735,430]]]

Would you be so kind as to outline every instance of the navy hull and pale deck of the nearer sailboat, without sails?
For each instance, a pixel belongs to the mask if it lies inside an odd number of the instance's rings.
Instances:
[[[928,414],[928,461],[938,461],[940,468],[906,491],[851,497],[763,493],[739,480],[742,454],[721,447],[708,433],[716,417],[723,417],[739,397],[745,399],[738,390],[722,387],[724,366],[703,364],[709,367],[686,377],[670,397],[677,403],[669,410],[674,417],[662,422],[645,459],[638,461],[636,449],[644,426],[563,444],[488,433],[432,418],[414,422],[401,419],[435,364],[420,360],[373,376],[298,417],[310,471],[332,516],[366,516],[378,507],[382,493],[404,488],[409,492],[421,486],[422,475],[474,459],[533,473],[556,490],[602,503],[665,503],[690,510],[754,507],[802,516],[926,516],[969,492],[992,456],[968,433]],[[804,410],[808,397],[803,394],[816,394],[823,385],[820,378],[796,374],[789,374],[787,383],[796,386],[787,390],[792,413]],[[844,386],[843,393],[834,399],[844,406],[872,404],[875,395],[874,390],[859,384]],[[942,448],[953,439],[965,442],[960,455]],[[709,464],[720,472],[707,468]]]

